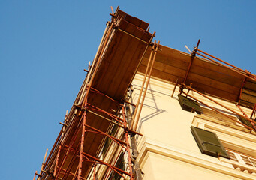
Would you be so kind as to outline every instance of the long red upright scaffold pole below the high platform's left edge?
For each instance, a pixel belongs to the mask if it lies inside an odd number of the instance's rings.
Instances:
[[[82,178],[82,164],[83,164],[83,142],[86,131],[86,110],[83,113],[83,126],[82,126],[82,135],[80,142],[80,156],[79,156],[79,164],[78,164],[78,180]]]

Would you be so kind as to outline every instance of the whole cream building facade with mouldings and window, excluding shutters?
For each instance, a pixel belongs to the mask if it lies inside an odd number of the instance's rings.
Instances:
[[[133,82],[133,101],[137,101],[142,82],[143,76],[137,74]],[[173,89],[174,85],[169,82],[154,77],[150,80],[138,125],[138,130],[143,133],[137,142],[143,179],[255,179],[255,132],[203,104],[200,104],[202,114],[182,110],[179,89],[171,97]],[[195,96],[239,121],[236,114]],[[239,113],[235,104],[215,100]],[[243,109],[251,113],[251,110]],[[215,133],[230,159],[203,154],[191,127]]]

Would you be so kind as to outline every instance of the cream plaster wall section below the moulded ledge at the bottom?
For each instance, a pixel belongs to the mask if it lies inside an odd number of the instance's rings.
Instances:
[[[144,180],[238,180],[230,175],[205,169],[200,166],[194,166],[191,163],[185,163],[179,160],[164,157],[161,154],[149,152],[146,160]],[[153,175],[148,175],[148,173]]]

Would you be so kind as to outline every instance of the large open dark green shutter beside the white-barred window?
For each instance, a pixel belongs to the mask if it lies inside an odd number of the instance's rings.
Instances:
[[[213,157],[218,157],[219,155],[220,157],[230,159],[230,156],[227,154],[227,151],[215,133],[193,126],[191,126],[191,132],[197,142],[198,147],[200,148],[200,151],[203,154]]]

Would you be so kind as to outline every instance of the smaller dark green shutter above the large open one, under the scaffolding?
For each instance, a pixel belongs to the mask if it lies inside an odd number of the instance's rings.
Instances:
[[[203,110],[200,108],[200,105],[197,103],[197,101],[194,101],[190,98],[186,98],[185,96],[178,95],[179,98],[179,104],[182,107],[182,110],[186,110],[189,112],[197,112],[197,114],[202,114]]]

